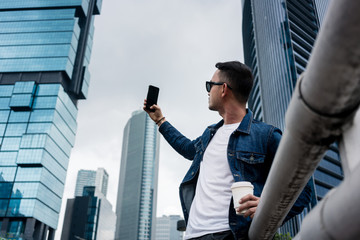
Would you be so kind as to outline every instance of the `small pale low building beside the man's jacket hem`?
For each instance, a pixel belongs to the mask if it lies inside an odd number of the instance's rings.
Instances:
[[[182,220],[179,215],[156,218],[156,240],[182,240],[183,232],[177,230],[177,222]]]

